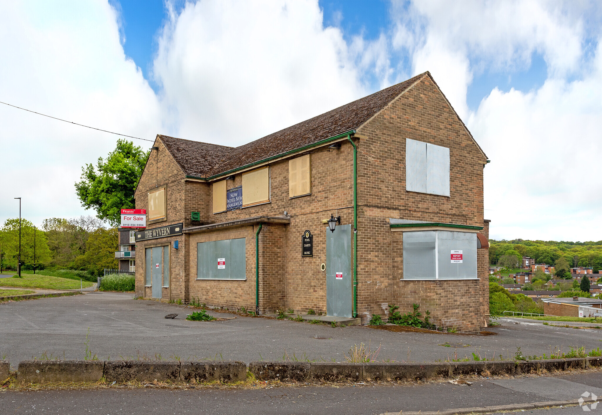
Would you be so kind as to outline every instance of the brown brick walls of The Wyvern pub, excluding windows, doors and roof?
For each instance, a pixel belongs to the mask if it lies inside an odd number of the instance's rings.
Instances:
[[[450,197],[405,190],[405,140],[425,141],[450,148]],[[403,233],[391,232],[388,218],[438,221],[484,226],[483,165],[480,152],[461,121],[448,106],[435,84],[424,78],[414,88],[391,102],[358,128],[358,313],[362,321],[386,316],[389,303],[409,312],[412,303],[430,310],[435,324],[476,332],[488,314],[488,252],[478,251],[479,280],[404,281]],[[259,236],[259,298],[262,312],[291,308],[295,312],[314,309],[326,312],[326,225],[330,214],[341,216],[342,224],[353,223],[353,147],[341,141],[340,150],[326,146],[311,150],[312,193],[288,197],[288,159],[270,164],[270,203],[213,214],[211,185],[185,179],[162,144],[157,179],[157,155],[149,158],[137,191],[137,208],[146,208],[146,192],[167,184],[165,226],[183,221],[190,225],[190,212],[200,212],[203,224],[258,215],[290,215],[290,225],[265,224]],[[235,174],[227,188],[240,185]],[[314,257],[301,257],[301,236],[314,235]],[[182,236],[178,259],[173,260],[171,298],[189,301],[191,296],[213,306],[255,307],[255,226],[222,229]],[[196,280],[196,243],[245,235],[246,281]],[[208,239],[209,238],[209,239]],[[171,239],[170,239],[171,241]],[[153,241],[149,241],[150,242]],[[144,245],[147,244],[138,244]],[[173,249],[172,249],[173,251]],[[138,264],[143,265],[143,255]],[[139,271],[138,271],[139,270]],[[172,278],[173,280],[174,278]],[[137,266],[137,292],[143,282],[143,266]]]

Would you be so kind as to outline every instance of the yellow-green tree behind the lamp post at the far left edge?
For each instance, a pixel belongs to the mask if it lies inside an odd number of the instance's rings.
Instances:
[[[21,218],[21,263],[23,268],[32,269],[34,256],[36,265],[45,265],[50,259],[50,250],[46,234],[36,228],[35,230],[35,253],[34,253],[34,225],[30,221]],[[0,231],[0,247],[4,253],[4,266],[17,268],[19,262],[19,218],[7,219]],[[38,267],[40,268],[40,267]]]

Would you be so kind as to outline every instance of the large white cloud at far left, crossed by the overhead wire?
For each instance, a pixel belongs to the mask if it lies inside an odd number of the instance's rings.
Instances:
[[[0,2],[0,16],[0,100],[154,138],[161,126],[158,100],[123,54],[108,4]],[[80,206],[73,183],[82,165],[114,149],[117,136],[5,105],[0,125],[0,221],[19,215],[13,197],[23,198],[23,217],[36,224],[95,213]]]

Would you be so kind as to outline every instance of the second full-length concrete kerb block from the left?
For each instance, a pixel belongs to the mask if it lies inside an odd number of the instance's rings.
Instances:
[[[178,381],[179,361],[116,360],[105,362],[105,379],[108,382]]]

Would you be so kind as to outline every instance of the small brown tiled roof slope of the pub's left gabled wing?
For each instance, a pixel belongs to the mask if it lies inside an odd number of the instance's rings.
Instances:
[[[234,147],[157,135],[187,176],[206,177]]]

